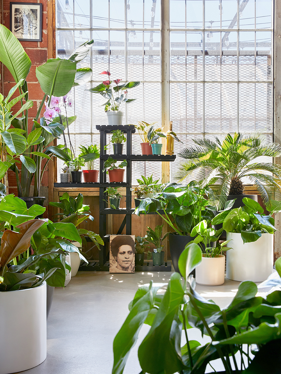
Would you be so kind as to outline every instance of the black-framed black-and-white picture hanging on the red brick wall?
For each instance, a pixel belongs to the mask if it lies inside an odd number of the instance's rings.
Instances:
[[[42,42],[42,4],[10,3],[10,31],[20,41]]]

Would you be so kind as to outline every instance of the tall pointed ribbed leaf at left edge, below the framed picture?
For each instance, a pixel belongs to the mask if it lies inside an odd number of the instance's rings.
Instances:
[[[24,82],[31,67],[30,58],[18,39],[1,24],[0,51],[0,61],[9,69],[15,82]]]

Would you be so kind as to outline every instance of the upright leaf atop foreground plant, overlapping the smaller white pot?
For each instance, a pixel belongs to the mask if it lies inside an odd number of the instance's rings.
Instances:
[[[198,244],[187,244],[179,256],[178,267],[182,276],[186,279],[189,273],[202,261],[202,252]]]

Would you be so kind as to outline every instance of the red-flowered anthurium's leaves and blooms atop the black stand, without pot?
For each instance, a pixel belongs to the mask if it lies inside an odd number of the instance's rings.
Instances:
[[[122,79],[111,80],[109,71],[102,71],[100,75],[107,75],[108,79],[104,80],[98,86],[90,88],[88,91],[100,93],[103,96],[100,106],[105,106],[105,111],[121,110],[127,102],[136,99],[127,99],[128,89],[138,86],[141,82],[128,82],[120,84]],[[115,86],[113,85],[115,83]]]

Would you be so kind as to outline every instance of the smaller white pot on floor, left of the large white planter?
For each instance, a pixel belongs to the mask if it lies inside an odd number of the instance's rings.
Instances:
[[[202,257],[195,269],[195,281],[203,286],[220,286],[224,283],[225,257]]]

